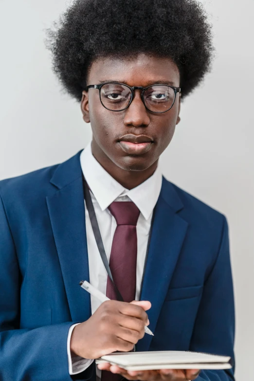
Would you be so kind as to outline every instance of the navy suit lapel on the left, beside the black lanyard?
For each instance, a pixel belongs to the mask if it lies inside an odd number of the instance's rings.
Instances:
[[[59,189],[47,197],[56,250],[73,322],[91,316],[90,294],[79,286],[89,281],[80,152],[60,164],[51,182]]]

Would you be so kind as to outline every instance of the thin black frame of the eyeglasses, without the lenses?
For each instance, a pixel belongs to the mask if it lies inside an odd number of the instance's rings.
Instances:
[[[131,98],[130,98],[130,101],[129,101],[129,104],[124,108],[124,109],[121,109],[121,110],[111,110],[111,109],[108,109],[103,103],[102,103],[102,100],[101,100],[101,88],[104,86],[104,85],[109,85],[109,84],[117,84],[117,85],[123,85],[123,86],[126,86],[130,91],[131,91]],[[174,93],[175,93],[175,96],[174,96],[174,101],[172,103],[172,106],[165,110],[165,111],[151,111],[150,109],[148,109],[145,105],[145,100],[144,100],[144,93],[145,93],[145,90],[146,89],[149,89],[149,87],[154,87],[154,86],[167,86],[167,87],[170,87],[171,89],[174,90]],[[135,89],[139,89],[139,90],[142,90],[142,93],[141,93],[141,99],[144,103],[144,106],[145,108],[150,111],[150,112],[153,112],[155,114],[163,114],[163,112],[167,112],[169,111],[170,109],[172,109],[172,107],[174,106],[174,103],[175,103],[175,100],[176,100],[176,95],[177,93],[181,92],[181,88],[180,87],[174,87],[174,86],[169,86],[169,85],[164,85],[163,83],[158,83],[158,84],[154,84],[154,85],[150,85],[150,86],[147,86],[147,87],[142,87],[142,86],[133,86],[133,87],[130,87],[128,85],[126,85],[125,83],[121,83],[121,82],[106,82],[106,83],[100,83],[98,85],[89,85],[86,87],[86,91],[88,91],[89,89],[98,89],[99,90],[99,93],[100,93],[100,101],[101,101],[101,104],[103,107],[105,107],[105,109],[109,110],[109,111],[124,111],[126,110],[129,105],[131,104],[132,100],[133,100],[133,97],[134,97],[134,90]]]

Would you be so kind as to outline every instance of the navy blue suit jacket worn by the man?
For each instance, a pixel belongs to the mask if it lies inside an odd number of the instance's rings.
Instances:
[[[81,151],[80,151],[81,152]],[[69,381],[67,336],[91,316],[80,152],[0,181],[0,381]],[[147,200],[149,202],[149,200]],[[163,178],[141,300],[152,304],[137,351],[234,358],[234,297],[223,215]],[[79,376],[95,381],[95,364]],[[198,381],[232,381],[206,370]]]

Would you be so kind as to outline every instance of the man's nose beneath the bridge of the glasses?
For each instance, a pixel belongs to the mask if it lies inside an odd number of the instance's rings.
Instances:
[[[148,110],[141,98],[141,90],[134,90],[134,97],[125,110],[124,124],[127,127],[147,127],[150,123]]]

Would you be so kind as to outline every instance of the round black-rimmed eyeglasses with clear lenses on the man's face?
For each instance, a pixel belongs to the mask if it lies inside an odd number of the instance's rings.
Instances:
[[[145,108],[151,112],[162,113],[170,110],[176,100],[176,95],[181,92],[180,87],[168,85],[152,85],[148,87],[129,87],[119,82],[107,82],[87,86],[88,89],[100,91],[100,101],[105,109],[110,111],[123,111],[129,107],[134,97],[134,90],[142,90],[141,98]]]

